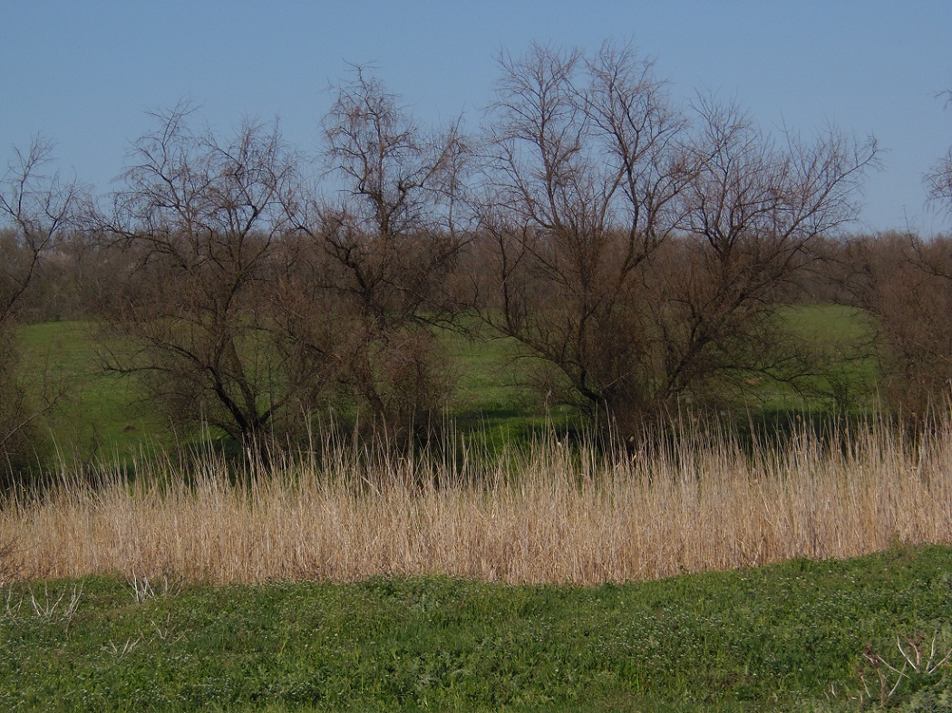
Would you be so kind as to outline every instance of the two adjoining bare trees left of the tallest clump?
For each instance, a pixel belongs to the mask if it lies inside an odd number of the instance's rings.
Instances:
[[[341,401],[401,436],[426,428],[449,390],[432,327],[456,311],[442,287],[464,240],[455,127],[425,135],[357,70],[325,120],[328,197],[275,125],[222,140],[188,107],[156,120],[92,219],[125,260],[98,299],[121,337],[112,368],[244,443]]]

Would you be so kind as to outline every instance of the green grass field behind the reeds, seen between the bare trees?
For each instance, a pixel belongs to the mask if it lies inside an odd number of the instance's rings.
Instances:
[[[870,327],[855,310],[833,305],[789,308],[783,317],[802,337],[825,345],[832,376],[818,376],[803,393],[764,381],[740,414],[769,423],[793,413],[863,412],[873,405],[876,365],[857,357],[855,343],[868,338]],[[105,373],[97,354],[92,325],[48,322],[24,327],[20,346],[28,366],[30,388],[44,381],[62,383],[65,397],[42,424],[45,434],[67,459],[124,456],[146,449],[174,448],[176,439],[142,399],[134,377]],[[444,337],[459,377],[448,399],[448,418],[467,434],[495,444],[519,441],[546,423],[568,424],[567,407],[546,405],[526,388],[532,360],[518,357],[511,339],[470,338],[447,332]],[[181,437],[181,434],[180,434]]]

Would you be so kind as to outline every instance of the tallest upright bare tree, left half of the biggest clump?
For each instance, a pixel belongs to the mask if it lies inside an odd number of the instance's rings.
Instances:
[[[499,62],[481,236],[501,299],[484,318],[593,411],[640,407],[650,365],[637,305],[646,261],[677,224],[684,117],[631,48],[586,60],[534,45]]]

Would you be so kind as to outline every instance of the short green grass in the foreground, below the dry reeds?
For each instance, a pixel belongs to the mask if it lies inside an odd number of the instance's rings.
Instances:
[[[857,710],[880,703],[864,653],[901,668],[897,636],[952,646],[942,547],[597,588],[94,577],[3,591],[5,710]],[[886,699],[950,701],[948,665],[907,668]]]

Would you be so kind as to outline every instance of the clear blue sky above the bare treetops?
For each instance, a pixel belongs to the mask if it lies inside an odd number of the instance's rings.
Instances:
[[[279,117],[310,152],[348,63],[373,63],[425,125],[462,113],[475,129],[501,48],[605,39],[654,57],[676,97],[713,91],[766,129],[875,136],[883,170],[857,230],[952,228],[922,185],[952,145],[936,96],[952,89],[952,0],[0,0],[0,161],[40,132],[108,191],[147,112],[181,99],[225,132]]]

